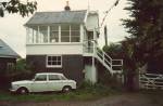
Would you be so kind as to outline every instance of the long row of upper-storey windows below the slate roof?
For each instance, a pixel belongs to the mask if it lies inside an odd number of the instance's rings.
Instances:
[[[27,43],[80,42],[79,25],[32,26],[27,28]]]

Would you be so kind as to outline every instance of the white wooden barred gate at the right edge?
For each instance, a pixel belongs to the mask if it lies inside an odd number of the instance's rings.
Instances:
[[[163,75],[159,74],[139,74],[140,89],[162,89],[163,90]]]

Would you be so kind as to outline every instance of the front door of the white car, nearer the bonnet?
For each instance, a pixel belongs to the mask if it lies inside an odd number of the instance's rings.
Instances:
[[[48,91],[48,80],[47,75],[38,75],[36,76],[34,82],[32,83],[33,92],[43,92]]]

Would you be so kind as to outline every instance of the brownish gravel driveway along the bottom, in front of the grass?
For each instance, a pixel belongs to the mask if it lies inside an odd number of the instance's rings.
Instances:
[[[89,102],[0,102],[0,106],[163,106],[163,96],[156,94],[124,93]]]

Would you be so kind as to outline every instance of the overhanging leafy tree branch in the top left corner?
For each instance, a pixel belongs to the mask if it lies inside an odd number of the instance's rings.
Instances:
[[[3,17],[7,12],[9,13],[20,13],[20,15],[27,16],[33,14],[37,10],[36,1],[21,2],[20,0],[10,0],[0,2],[0,16]]]

